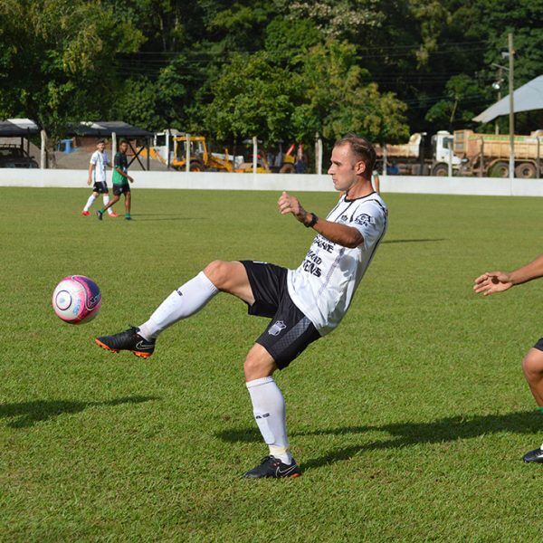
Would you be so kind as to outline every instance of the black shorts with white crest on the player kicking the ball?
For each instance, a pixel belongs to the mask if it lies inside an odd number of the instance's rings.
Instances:
[[[320,338],[319,331],[291,300],[285,268],[267,262],[241,262],[254,296],[249,315],[271,318],[256,343],[271,354],[279,369],[283,369]]]

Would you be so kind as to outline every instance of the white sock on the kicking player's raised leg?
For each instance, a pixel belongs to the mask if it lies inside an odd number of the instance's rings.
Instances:
[[[148,340],[157,338],[177,320],[186,319],[201,310],[218,291],[204,271],[200,271],[158,306],[150,319],[139,327],[138,334]]]

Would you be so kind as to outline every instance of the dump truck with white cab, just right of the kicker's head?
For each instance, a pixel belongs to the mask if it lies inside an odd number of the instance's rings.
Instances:
[[[400,145],[386,145],[386,164],[395,164],[398,173],[412,176],[447,176],[449,165],[456,174],[462,160],[452,152],[452,134],[440,130],[430,138],[424,132],[415,132],[409,141]],[[376,145],[377,169],[382,171],[385,149]]]

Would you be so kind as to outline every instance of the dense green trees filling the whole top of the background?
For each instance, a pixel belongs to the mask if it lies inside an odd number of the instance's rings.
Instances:
[[[510,32],[516,86],[538,76],[541,20],[539,0],[4,0],[0,116],[53,138],[101,118],[227,143],[395,142],[473,126]],[[520,132],[542,124],[519,116]]]

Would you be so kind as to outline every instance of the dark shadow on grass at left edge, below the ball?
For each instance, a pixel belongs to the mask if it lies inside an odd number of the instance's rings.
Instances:
[[[35,400],[19,404],[0,404],[0,418],[15,418],[10,428],[28,428],[60,414],[81,413],[89,407],[114,407],[122,404],[141,404],[157,400],[156,396],[126,396],[108,402],[72,402],[67,400]]]

